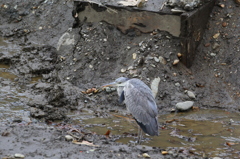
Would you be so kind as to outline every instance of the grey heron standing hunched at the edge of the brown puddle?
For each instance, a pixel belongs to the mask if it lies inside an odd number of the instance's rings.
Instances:
[[[138,140],[142,140],[142,131],[150,136],[158,136],[158,109],[151,89],[140,79],[119,77],[102,87],[116,87],[119,103],[125,103],[127,110],[139,125]]]

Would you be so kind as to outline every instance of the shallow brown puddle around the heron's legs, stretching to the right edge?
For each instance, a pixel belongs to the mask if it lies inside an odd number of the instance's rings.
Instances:
[[[207,157],[239,157],[240,115],[237,113],[212,109],[189,111],[162,115],[159,122],[162,127],[160,135],[145,135],[143,145],[164,149],[188,147]],[[117,142],[136,141],[137,124],[125,117],[91,118],[82,120],[82,124],[88,125],[87,128],[97,134],[104,135],[111,130],[111,135],[121,136]]]

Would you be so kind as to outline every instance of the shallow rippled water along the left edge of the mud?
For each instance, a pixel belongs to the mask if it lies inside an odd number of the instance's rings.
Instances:
[[[19,47],[0,37],[0,53],[15,53]],[[8,72],[9,65],[0,64],[0,125],[13,121],[29,121],[29,112],[23,100],[23,90],[15,87],[16,75]]]

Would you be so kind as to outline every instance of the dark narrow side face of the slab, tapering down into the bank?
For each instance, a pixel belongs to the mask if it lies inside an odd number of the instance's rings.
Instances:
[[[188,68],[193,64],[215,3],[216,0],[212,0],[191,13],[181,15],[181,62]]]

